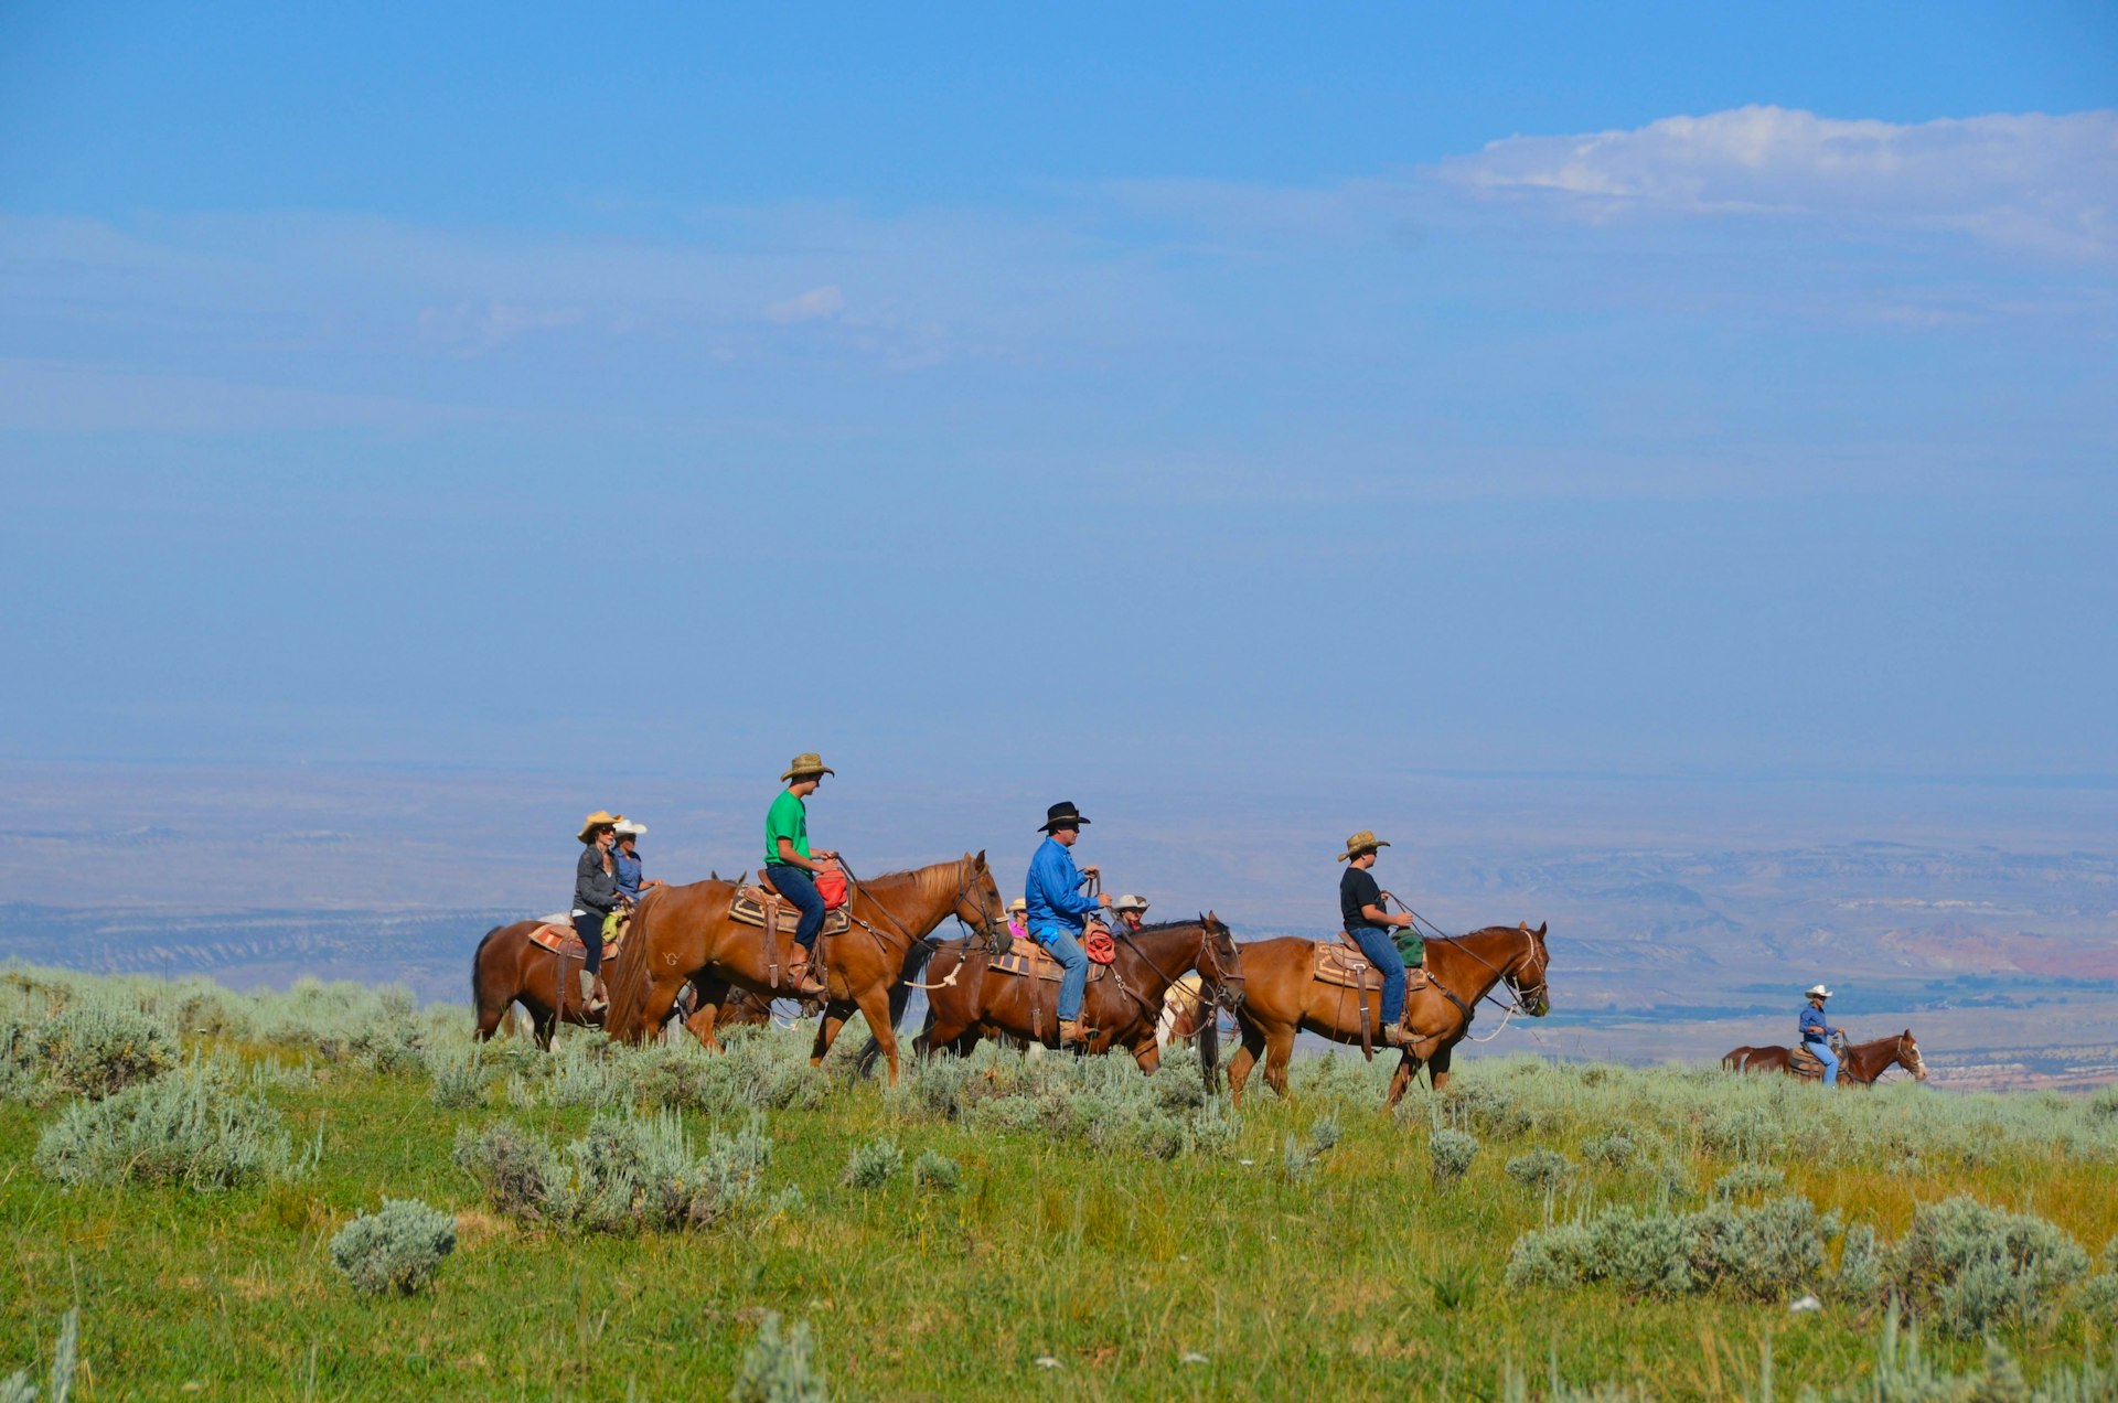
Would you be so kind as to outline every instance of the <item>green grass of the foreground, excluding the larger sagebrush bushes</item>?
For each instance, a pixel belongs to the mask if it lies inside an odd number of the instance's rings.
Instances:
[[[885,1094],[839,1060],[809,1072],[801,1034],[769,1032],[714,1068],[690,1047],[610,1055],[574,1036],[551,1060],[498,1047],[477,1072],[466,1013],[345,988],[250,1000],[17,971],[8,996],[0,1373],[40,1371],[78,1306],[76,1399],[720,1399],[765,1312],[809,1322],[832,1397],[1497,1399],[1550,1397],[1557,1378],[1758,1399],[1766,1350],[1773,1397],[1830,1397],[1870,1373],[1887,1314],[1834,1286],[1836,1236],[1817,1280],[1788,1280],[1783,1299],[1510,1286],[1510,1248],[1612,1204],[1699,1206],[1739,1164],[1783,1176],[1741,1202],[1800,1193],[1883,1240],[1955,1193],[2038,1214],[2090,1259],[2118,1236],[2110,1096],[1826,1096],[1718,1070],[1489,1060],[1389,1117],[1383,1062],[1356,1055],[1309,1060],[1292,1102],[1231,1117],[1190,1104],[1182,1058],[1156,1087],[1129,1064],[981,1053]],[[263,1068],[227,1096],[277,1111],[297,1159],[320,1132],[316,1164],[220,1193],[55,1183],[36,1151],[72,1098],[38,1081],[28,1049],[40,1019],[85,998],[144,1009],[186,1055]],[[377,1019],[390,1038],[360,1034]],[[449,1066],[474,1079],[472,1104],[436,1104],[432,1068]],[[686,1231],[574,1231],[498,1210],[453,1159],[462,1125],[570,1140],[597,1102],[635,1098],[688,1106],[695,1144],[760,1117],[756,1195]],[[1480,1140],[1449,1187],[1430,1174],[1436,1125]],[[843,1183],[851,1151],[883,1136],[907,1168]],[[1552,1189],[1519,1183],[1506,1164],[1538,1147],[1578,1168]],[[959,1166],[953,1191],[913,1183],[923,1151]],[[457,1216],[455,1253],[419,1295],[356,1295],[333,1267],[333,1233],[383,1195]],[[1809,1291],[1824,1308],[1790,1312]],[[2057,1378],[2110,1356],[2112,1316],[2084,1278],[2048,1320],[1995,1337],[2029,1380]],[[1923,1350],[1974,1369],[1987,1346],[1929,1329]]]

